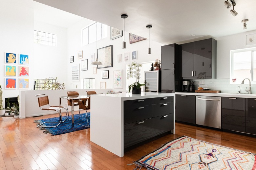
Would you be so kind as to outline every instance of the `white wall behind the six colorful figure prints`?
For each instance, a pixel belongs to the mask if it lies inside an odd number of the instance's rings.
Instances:
[[[3,100],[17,97],[20,89],[4,89],[5,52],[26,54],[30,57],[29,86],[33,87],[33,9],[31,0],[0,0],[0,85],[3,88]],[[19,59],[19,57],[17,57]],[[19,66],[18,63],[12,64]],[[15,77],[17,80],[18,76]],[[17,84],[16,84],[17,87]],[[3,107],[5,102],[3,101]]]

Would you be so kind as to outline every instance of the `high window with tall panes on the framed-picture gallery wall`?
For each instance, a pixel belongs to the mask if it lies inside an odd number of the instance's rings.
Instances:
[[[82,29],[83,46],[107,37],[107,25],[94,23]]]

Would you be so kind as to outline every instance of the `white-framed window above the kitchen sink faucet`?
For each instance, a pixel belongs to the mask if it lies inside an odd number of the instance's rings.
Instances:
[[[231,51],[230,82],[241,84],[249,78],[256,83],[256,48]]]

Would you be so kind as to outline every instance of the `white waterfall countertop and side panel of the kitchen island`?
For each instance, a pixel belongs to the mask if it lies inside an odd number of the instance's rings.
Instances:
[[[175,94],[141,92],[141,94],[113,93],[91,95],[91,141],[119,157],[123,157],[124,103],[127,100],[143,100],[158,97],[167,98],[170,96],[175,97]],[[175,113],[173,115],[175,117]],[[175,133],[175,125],[173,133]]]

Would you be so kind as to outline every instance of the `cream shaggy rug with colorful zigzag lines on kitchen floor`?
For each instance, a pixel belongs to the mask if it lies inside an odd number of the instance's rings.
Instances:
[[[255,170],[255,160],[252,153],[182,136],[133,164],[151,170]]]

